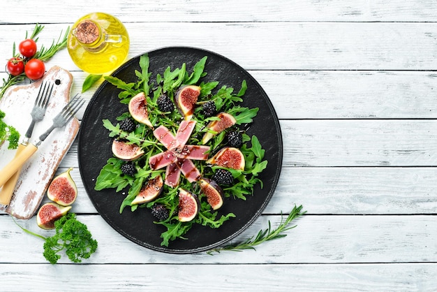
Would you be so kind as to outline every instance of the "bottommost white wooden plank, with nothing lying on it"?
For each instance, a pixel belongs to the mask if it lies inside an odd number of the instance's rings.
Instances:
[[[8,265],[6,291],[435,291],[435,263],[408,265]],[[103,281],[102,279],[105,279]]]

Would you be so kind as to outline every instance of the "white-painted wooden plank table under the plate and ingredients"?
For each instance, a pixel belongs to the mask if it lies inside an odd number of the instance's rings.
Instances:
[[[1,291],[437,290],[435,0],[3,1],[0,59],[36,22],[45,25],[39,42],[50,45],[93,11],[124,22],[129,57],[172,45],[212,50],[248,70],[271,98],[284,140],[281,179],[236,240],[268,221],[276,226],[295,204],[307,214],[256,251],[151,251],[96,212],[76,141],[58,172],[75,168],[72,211],[98,251],[82,264],[63,257],[50,265],[42,241],[0,214]],[[66,50],[47,68],[55,65],[71,71],[72,92],[80,92],[86,74]],[[42,232],[35,218],[20,224]]]

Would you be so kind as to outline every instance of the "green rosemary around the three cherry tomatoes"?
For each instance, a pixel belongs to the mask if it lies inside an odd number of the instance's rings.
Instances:
[[[41,31],[43,31],[43,29],[44,29],[43,25],[36,24],[34,31],[32,32],[30,38],[33,39],[34,41],[38,41],[37,36],[38,36],[38,34],[40,34]],[[67,28],[64,36],[62,36],[62,32],[61,32],[57,42],[54,43],[54,41],[53,41],[52,45],[50,45],[50,48],[45,48],[44,45],[41,45],[40,50],[38,50],[38,52],[36,52],[36,54],[33,58],[40,59],[41,61],[47,61],[48,59],[53,57],[56,52],[58,52],[62,48],[66,47],[69,31],[70,31],[70,27]],[[26,32],[25,38],[27,38],[27,32]],[[15,43],[13,43],[13,57],[18,57],[18,56],[19,56],[19,54],[15,53]],[[25,59],[24,61],[27,61],[27,60]],[[26,79],[27,79],[27,77],[26,77],[26,74],[24,74],[24,73],[17,75],[17,76],[13,76],[13,75],[8,74],[7,79],[3,78],[3,85],[0,87],[0,99],[3,97],[3,94],[6,92],[6,89],[8,89],[9,87],[16,85],[16,84],[18,84]]]

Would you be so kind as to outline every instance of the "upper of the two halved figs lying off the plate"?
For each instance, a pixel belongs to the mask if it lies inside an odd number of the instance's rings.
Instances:
[[[69,206],[74,203],[77,198],[77,187],[70,175],[73,168],[68,168],[67,171],[54,177],[50,186],[47,189],[47,197],[54,203],[62,206]]]

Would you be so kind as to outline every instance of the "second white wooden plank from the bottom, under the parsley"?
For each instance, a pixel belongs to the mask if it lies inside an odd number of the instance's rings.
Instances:
[[[306,207],[304,206],[304,210]],[[311,212],[311,210],[309,210]],[[428,263],[437,261],[437,218],[427,215],[323,216],[305,215],[285,238],[258,245],[256,250],[224,251],[210,256],[174,255],[140,247],[114,231],[100,216],[80,215],[99,247],[84,263]],[[256,235],[280,216],[260,217],[236,241]],[[18,221],[42,235],[35,219]],[[0,216],[0,258],[3,263],[45,263],[43,240],[23,233],[8,216]],[[189,239],[189,233],[186,235]],[[20,253],[17,253],[20,250]],[[120,252],[123,251],[123,252]],[[59,263],[68,263],[64,256]]]

